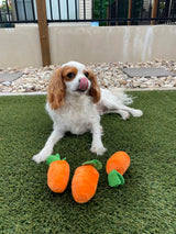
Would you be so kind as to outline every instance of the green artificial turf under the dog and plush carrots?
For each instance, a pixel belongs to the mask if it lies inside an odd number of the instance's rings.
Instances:
[[[50,191],[48,166],[31,159],[52,131],[45,97],[0,98],[0,233],[176,233],[176,92],[132,96],[144,115],[128,121],[103,115],[103,156],[89,152],[90,133],[66,134],[54,148],[67,157],[70,178],[81,163],[101,160],[98,190],[85,204],[73,200],[70,181],[63,194]],[[125,183],[110,188],[106,161],[117,151],[130,155],[131,166]]]

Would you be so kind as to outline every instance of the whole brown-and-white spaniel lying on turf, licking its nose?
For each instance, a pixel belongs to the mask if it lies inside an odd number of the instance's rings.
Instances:
[[[53,120],[53,132],[44,148],[33,156],[33,160],[46,160],[66,132],[82,134],[90,131],[90,151],[102,155],[107,148],[101,141],[100,116],[106,113],[118,113],[123,120],[128,120],[130,114],[142,116],[141,110],[128,107],[132,102],[132,98],[123,91],[100,88],[96,76],[85,65],[77,62],[64,64],[53,74],[47,90],[45,109]]]

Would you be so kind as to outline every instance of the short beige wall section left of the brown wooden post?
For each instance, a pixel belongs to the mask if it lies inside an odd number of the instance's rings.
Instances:
[[[0,67],[42,66],[41,44],[36,24],[0,29]]]

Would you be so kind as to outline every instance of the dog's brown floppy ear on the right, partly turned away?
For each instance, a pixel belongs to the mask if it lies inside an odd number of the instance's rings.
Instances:
[[[97,103],[100,100],[100,86],[97,82],[97,78],[91,70],[88,70],[89,80],[91,81],[91,87],[89,90],[89,96],[92,97],[94,103]]]

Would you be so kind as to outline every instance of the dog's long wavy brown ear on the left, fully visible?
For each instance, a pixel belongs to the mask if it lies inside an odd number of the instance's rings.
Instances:
[[[64,104],[65,90],[65,83],[62,78],[62,68],[58,68],[53,74],[47,89],[47,100],[51,103],[52,109],[56,110]]]

